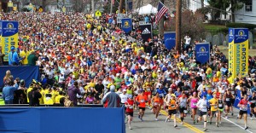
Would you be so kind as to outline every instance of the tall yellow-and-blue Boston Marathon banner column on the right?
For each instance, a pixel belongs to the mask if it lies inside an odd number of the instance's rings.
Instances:
[[[248,45],[249,36],[247,28],[232,28],[229,32],[229,45],[232,78],[247,77],[248,74]]]

